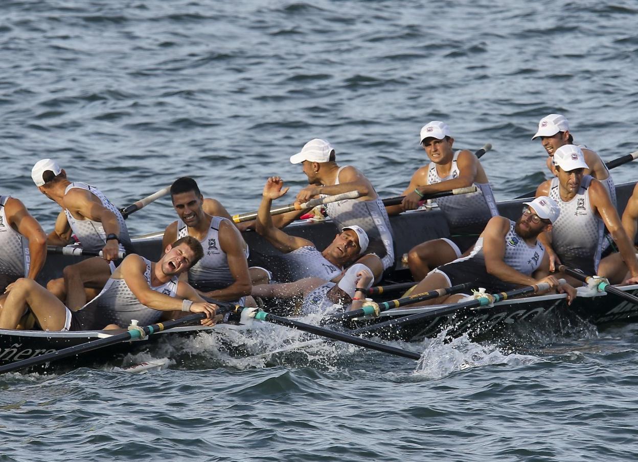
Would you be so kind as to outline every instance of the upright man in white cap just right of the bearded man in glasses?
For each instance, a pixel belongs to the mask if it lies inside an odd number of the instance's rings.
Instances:
[[[550,271],[563,264],[587,275],[597,274],[603,231],[607,227],[629,269],[628,282],[638,282],[634,246],[623,229],[607,188],[585,174],[588,165],[581,148],[566,144],[556,149],[554,168],[556,177],[540,184],[536,191],[537,197],[549,195],[553,198],[561,210],[551,232],[540,236],[549,254]],[[565,278],[575,281],[570,276]]]

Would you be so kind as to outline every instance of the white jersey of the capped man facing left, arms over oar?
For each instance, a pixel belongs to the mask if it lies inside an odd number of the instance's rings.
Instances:
[[[339,173],[334,184],[339,184]],[[326,195],[322,194],[322,197]],[[331,202],[325,205],[325,210],[339,231],[349,225],[357,225],[363,228],[369,239],[367,253],[375,253],[381,258],[383,269],[394,265],[394,242],[392,240],[392,227],[385,211],[385,205],[380,198],[375,200],[347,199],[339,202]]]

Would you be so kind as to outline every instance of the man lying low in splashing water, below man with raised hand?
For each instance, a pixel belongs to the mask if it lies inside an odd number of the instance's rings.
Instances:
[[[256,285],[253,296],[299,299],[299,313],[295,314],[333,313],[361,308],[373,279],[372,271],[366,265],[355,263],[338,283],[325,278],[304,278],[290,283]]]

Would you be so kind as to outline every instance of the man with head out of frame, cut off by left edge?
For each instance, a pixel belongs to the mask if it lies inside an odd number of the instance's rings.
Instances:
[[[47,235],[19,199],[0,196],[0,308],[4,290],[19,278],[35,279],[47,260]]]

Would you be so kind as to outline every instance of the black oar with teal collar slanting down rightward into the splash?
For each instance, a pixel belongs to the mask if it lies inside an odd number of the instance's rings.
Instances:
[[[254,308],[243,308],[237,307],[239,311],[244,309],[254,309]],[[376,341],[367,340],[360,337],[355,337],[352,335],[344,334],[343,332],[336,332],[330,329],[325,329],[324,327],[319,327],[318,325],[306,324],[304,322],[299,322],[294,319],[282,318],[280,316],[271,315],[271,313],[267,313],[259,309],[256,311],[254,318],[256,320],[271,322],[272,324],[283,325],[285,327],[290,327],[290,329],[297,329],[298,331],[309,332],[310,334],[315,334],[318,336],[322,336],[325,338],[329,338],[332,340],[343,341],[345,343],[350,343],[352,345],[357,345],[358,347],[371,348],[372,350],[376,350],[379,352],[401,356],[409,359],[420,359],[421,355],[419,353],[412,352],[410,350],[403,350],[402,348],[392,347],[390,345],[385,345],[383,343],[379,343]]]

